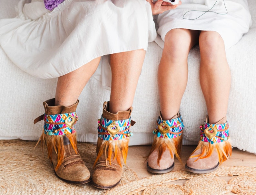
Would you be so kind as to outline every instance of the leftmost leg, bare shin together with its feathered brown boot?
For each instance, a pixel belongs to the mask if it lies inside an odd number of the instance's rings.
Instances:
[[[78,120],[78,97],[99,60],[100,57],[59,77],[55,99],[43,103],[45,123],[40,140],[47,146],[55,174],[67,183],[84,184],[90,181],[90,172],[77,150],[74,125]]]

